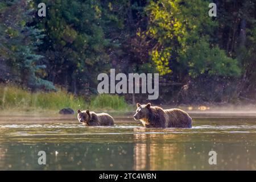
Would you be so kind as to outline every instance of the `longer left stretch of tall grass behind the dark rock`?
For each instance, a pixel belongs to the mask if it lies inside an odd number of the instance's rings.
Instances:
[[[75,97],[65,90],[31,93],[17,86],[0,85],[0,109],[59,111],[65,107],[77,109],[86,107],[86,104],[82,97]]]

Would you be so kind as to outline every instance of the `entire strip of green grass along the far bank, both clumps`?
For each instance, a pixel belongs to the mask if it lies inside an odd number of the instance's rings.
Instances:
[[[66,90],[57,92],[30,92],[14,85],[0,85],[0,112],[11,110],[28,113],[58,113],[60,109],[70,107],[73,110],[91,109],[95,111],[126,112],[131,109],[123,97],[101,94],[86,102],[81,96],[75,96]]]

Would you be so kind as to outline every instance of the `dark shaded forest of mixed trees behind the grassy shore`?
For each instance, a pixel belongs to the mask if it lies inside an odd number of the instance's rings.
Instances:
[[[87,98],[115,68],[159,73],[156,104],[255,103],[255,52],[256,1],[0,2],[0,82],[32,92],[61,86]]]

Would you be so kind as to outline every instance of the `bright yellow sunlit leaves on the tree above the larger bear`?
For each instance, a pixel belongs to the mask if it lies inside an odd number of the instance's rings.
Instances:
[[[184,44],[185,41],[184,24],[179,19],[181,13],[179,2],[179,0],[151,1],[150,5],[146,7],[150,22],[145,33],[157,41],[151,52],[151,57],[160,75],[171,72],[169,67],[171,52],[175,46]]]

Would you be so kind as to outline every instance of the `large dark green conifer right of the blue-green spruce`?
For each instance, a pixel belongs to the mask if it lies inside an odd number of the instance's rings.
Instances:
[[[36,2],[34,6],[40,1]],[[88,85],[79,89],[88,89],[89,84],[95,86],[98,73],[110,68],[107,51],[112,46],[112,40],[105,37],[106,22],[102,18],[105,15],[102,15],[100,1],[44,2],[49,7],[47,16],[35,21],[47,35],[40,46],[46,56],[47,76],[51,78],[57,74],[60,79],[54,80],[55,84],[63,86],[72,85],[72,82],[78,86]],[[76,86],[69,90],[74,92]]]

